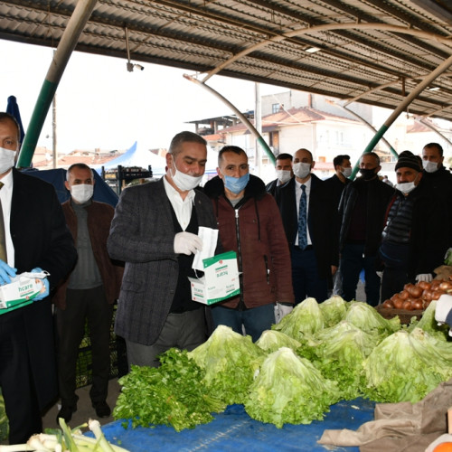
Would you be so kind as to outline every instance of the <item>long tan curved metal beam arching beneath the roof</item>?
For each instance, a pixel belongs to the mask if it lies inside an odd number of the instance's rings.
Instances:
[[[293,30],[291,32],[279,34],[278,36],[274,36],[270,39],[267,39],[265,41],[258,42],[257,44],[250,45],[250,47],[247,47],[243,51],[236,53],[235,55],[231,56],[230,59],[223,61],[221,64],[216,66],[212,69],[212,71],[209,71],[207,75],[202,79],[202,82],[205,82],[209,80],[213,75],[217,74],[218,72],[222,71],[223,69],[230,66],[234,61],[240,60],[240,58],[250,54],[251,52],[255,52],[263,47],[268,46],[268,44],[271,44],[273,42],[280,42],[284,41],[288,38],[293,38],[295,36],[301,36],[303,34],[307,33],[318,33],[318,32],[330,32],[333,30],[381,30],[386,32],[393,32],[393,33],[403,33],[403,34],[410,34],[411,36],[417,36],[419,38],[425,38],[436,42],[441,43],[447,43],[452,45],[452,37],[451,38],[445,38],[444,36],[440,36],[437,33],[429,33],[424,32],[422,30],[417,30],[410,27],[402,27],[400,25],[390,25],[390,24],[323,24],[323,25],[315,25],[312,27],[303,28],[301,30]],[[452,48],[450,49],[450,52],[452,53]]]

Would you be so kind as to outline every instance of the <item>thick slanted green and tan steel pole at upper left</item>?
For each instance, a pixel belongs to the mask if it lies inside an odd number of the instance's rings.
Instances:
[[[49,71],[42,83],[36,104],[34,105],[32,118],[27,127],[24,143],[21,147],[18,168],[26,168],[31,165],[34,148],[41,135],[42,126],[52,105],[52,99],[60,83],[62,74],[71,58],[71,53],[79,42],[80,34],[88,22],[89,17],[96,6],[97,0],[80,0],[71,15],[66,30],[61,36],[56,52],[53,53],[53,59]]]

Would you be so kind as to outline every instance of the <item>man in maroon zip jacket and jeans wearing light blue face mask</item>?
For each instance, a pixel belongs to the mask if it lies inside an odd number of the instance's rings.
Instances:
[[[218,176],[205,184],[213,202],[223,250],[234,250],[240,295],[212,306],[214,326],[227,325],[257,341],[294,303],[290,256],[278,206],[265,184],[250,174],[248,156],[238,146],[218,155]]]

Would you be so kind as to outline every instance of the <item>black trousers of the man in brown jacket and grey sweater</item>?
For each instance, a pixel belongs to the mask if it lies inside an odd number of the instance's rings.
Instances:
[[[92,386],[89,397],[93,404],[107,399],[112,314],[113,306],[108,305],[103,286],[68,289],[66,309],[56,310],[58,383],[62,406],[75,407],[77,404],[76,366],[86,320],[92,355]]]

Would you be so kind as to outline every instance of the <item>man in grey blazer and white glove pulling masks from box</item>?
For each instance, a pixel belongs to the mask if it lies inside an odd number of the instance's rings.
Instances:
[[[198,227],[217,229],[212,202],[193,190],[206,160],[205,140],[181,132],[166,155],[165,176],[121,193],[108,253],[126,262],[115,332],[126,340],[129,366],[157,366],[158,354],[193,350],[206,339],[205,309],[192,301],[187,278],[202,250]]]

